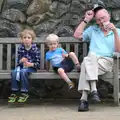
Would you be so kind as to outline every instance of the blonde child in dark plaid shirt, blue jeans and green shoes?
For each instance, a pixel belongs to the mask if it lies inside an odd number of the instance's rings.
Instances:
[[[33,30],[25,29],[20,33],[21,44],[18,47],[17,67],[12,71],[11,91],[8,102],[26,102],[28,99],[28,75],[40,68],[40,50],[33,40]],[[20,95],[18,96],[18,92]]]

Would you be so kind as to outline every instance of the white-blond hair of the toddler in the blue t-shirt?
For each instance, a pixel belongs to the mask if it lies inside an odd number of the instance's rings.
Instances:
[[[49,34],[47,37],[46,37],[46,43],[47,44],[50,44],[52,42],[57,42],[59,43],[59,37],[55,34]]]

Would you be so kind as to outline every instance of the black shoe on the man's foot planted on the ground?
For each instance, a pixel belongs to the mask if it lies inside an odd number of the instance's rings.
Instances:
[[[89,104],[85,100],[80,100],[79,106],[78,106],[78,112],[84,112],[89,110]]]

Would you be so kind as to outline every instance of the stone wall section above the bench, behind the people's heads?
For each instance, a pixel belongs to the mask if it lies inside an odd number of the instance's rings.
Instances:
[[[0,0],[0,37],[17,37],[24,28],[37,36],[72,36],[87,9],[99,0]],[[120,1],[103,0],[111,20],[120,26]]]

